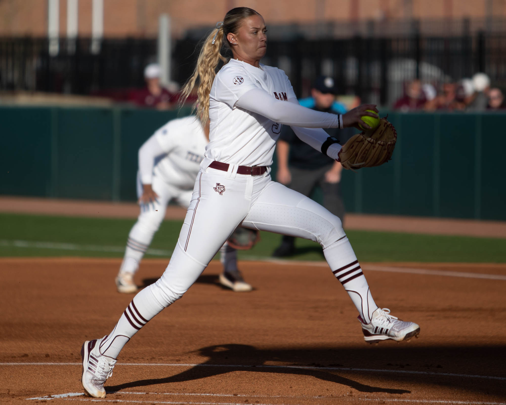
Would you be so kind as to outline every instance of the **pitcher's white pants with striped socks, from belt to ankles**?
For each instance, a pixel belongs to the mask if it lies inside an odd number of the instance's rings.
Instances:
[[[377,305],[358,264],[341,220],[310,198],[273,182],[269,174],[238,175],[202,169],[171,261],[155,284],[139,292],[101,353],[116,358],[122,347],[163,308],[196,281],[230,234],[241,224],[318,242],[334,276],[341,282],[364,323]]]

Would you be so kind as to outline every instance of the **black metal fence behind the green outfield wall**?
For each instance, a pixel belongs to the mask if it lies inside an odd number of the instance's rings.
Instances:
[[[156,60],[156,39],[60,39],[50,55],[47,38],[0,38],[0,90],[108,95],[143,86],[143,69]],[[173,47],[171,77],[185,82],[197,57],[198,41]],[[364,37],[269,41],[265,64],[285,70],[298,96],[306,96],[319,74],[334,76],[344,94],[382,105],[402,95],[413,78],[438,85],[486,72],[506,87],[506,31],[460,36]]]

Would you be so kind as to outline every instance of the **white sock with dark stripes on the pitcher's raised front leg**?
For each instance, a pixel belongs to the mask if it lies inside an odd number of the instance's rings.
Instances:
[[[372,299],[369,285],[348,237],[345,236],[325,248],[323,254],[335,278],[341,282],[358,309],[361,321],[369,323],[377,305]]]

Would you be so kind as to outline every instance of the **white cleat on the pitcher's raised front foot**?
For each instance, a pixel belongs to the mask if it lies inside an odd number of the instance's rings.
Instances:
[[[418,337],[420,327],[414,322],[403,321],[390,315],[390,309],[378,308],[372,313],[370,323],[365,324],[360,317],[364,340],[367,343],[379,343],[382,340],[408,341],[413,336]]]

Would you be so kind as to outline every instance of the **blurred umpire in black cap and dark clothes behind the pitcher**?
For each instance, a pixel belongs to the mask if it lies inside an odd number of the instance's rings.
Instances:
[[[299,100],[299,103],[317,111],[344,114],[346,107],[335,101],[336,94],[334,79],[320,76],[311,89],[312,97]],[[342,144],[355,133],[352,128],[344,130],[328,128],[325,132],[338,138]],[[320,186],[323,191],[323,207],[344,223],[345,206],[340,186],[343,170],[341,164],[301,141],[286,125],[281,130],[276,150],[278,157],[276,180],[306,196],[310,196],[314,188]],[[274,251],[273,256],[286,257],[294,253],[295,238],[284,235],[281,245]]]

